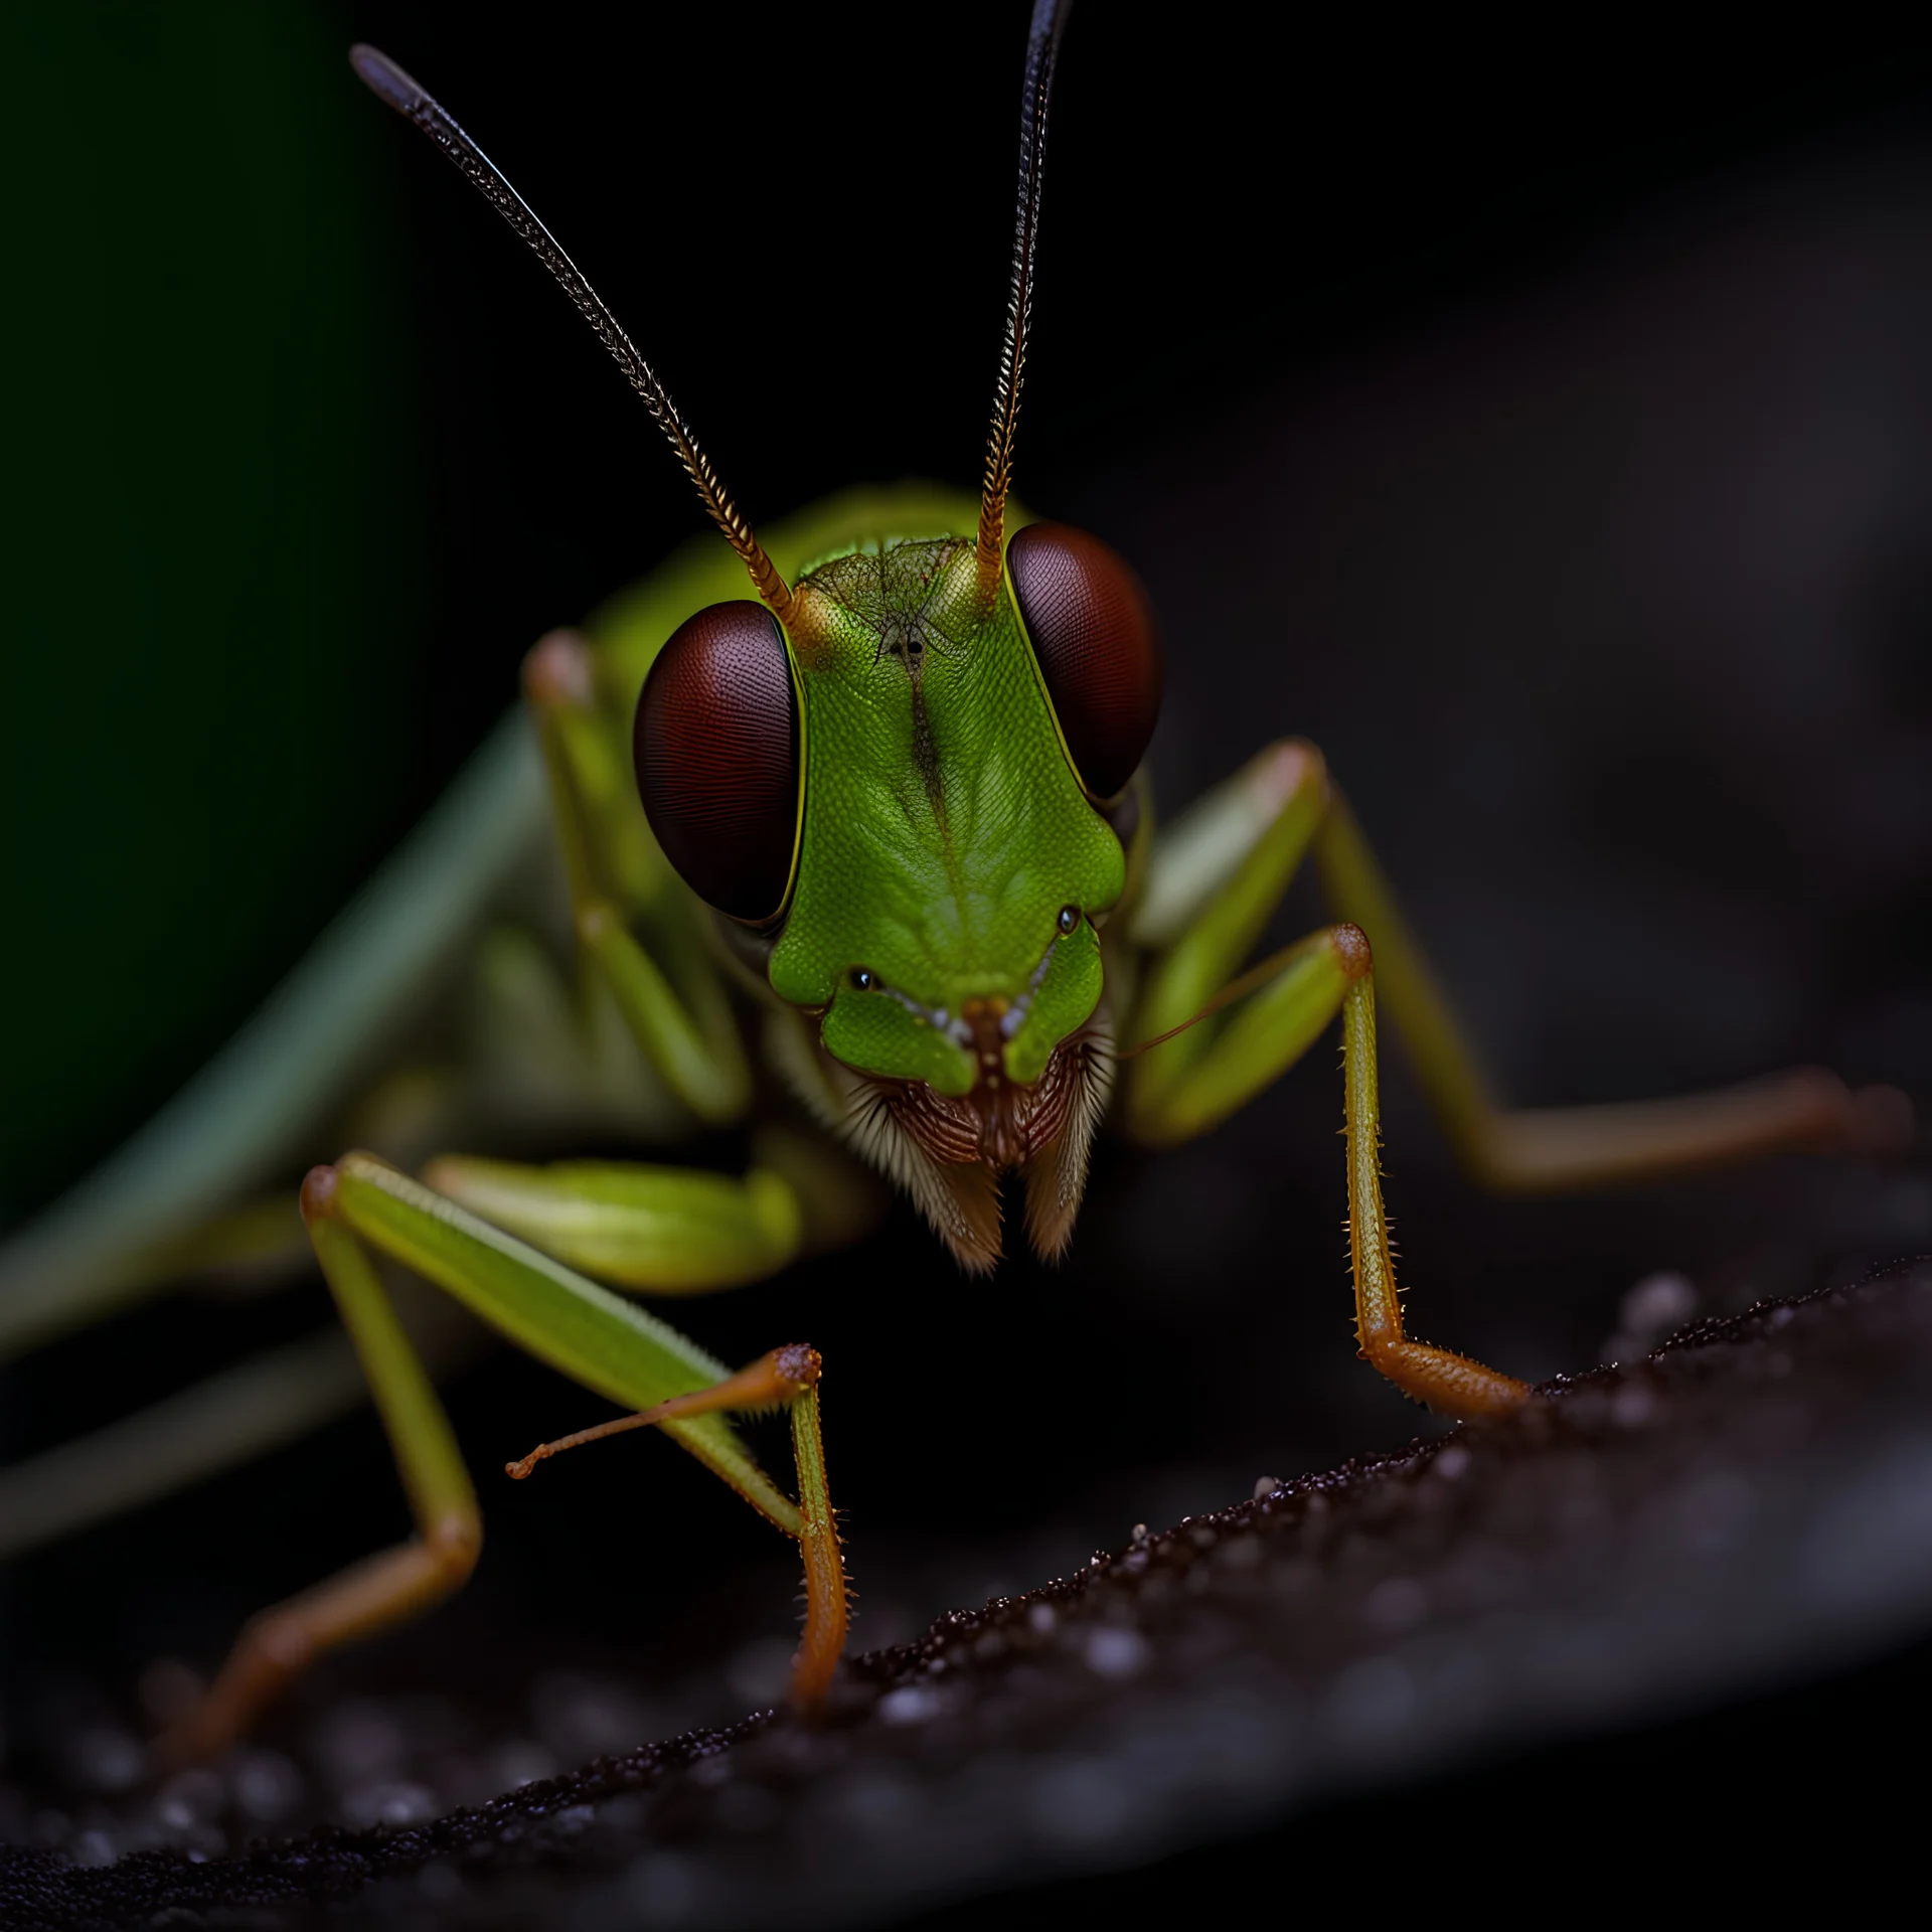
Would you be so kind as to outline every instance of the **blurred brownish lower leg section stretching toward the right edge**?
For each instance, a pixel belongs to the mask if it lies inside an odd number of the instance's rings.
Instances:
[[[1565,1188],[1748,1159],[1785,1148],[1895,1151],[1911,1103],[1895,1088],[1851,1092],[1822,1066],[1741,1086],[1600,1107],[1505,1109],[1484,1080],[1395,895],[1339,792],[1314,842],[1329,904],[1376,945],[1376,972],[1403,1045],[1451,1146],[1497,1188]]]

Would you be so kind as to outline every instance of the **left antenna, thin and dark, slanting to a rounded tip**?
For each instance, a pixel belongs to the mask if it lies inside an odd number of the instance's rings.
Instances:
[[[636,344],[618,327],[616,317],[603,305],[603,298],[583,278],[583,270],[556,245],[556,238],[529,211],[524,197],[502,178],[495,162],[456,126],[435,97],[425,93],[396,66],[388,54],[373,46],[352,46],[350,66],[363,79],[371,93],[381,95],[404,120],[415,122],[437,147],[450,158],[458,174],[469,182],[477,193],[531,245],[537,259],[562,284],[564,294],[578,305],[578,313],[597,330],[597,340],[616,357],[616,365],[630,379],[630,386],[643,398],[657,427],[670,439],[678,452],[686,475],[697,485],[711,522],[724,531],[724,541],[744,558],[744,568],[752,572],[757,595],[771,607],[781,622],[792,607],[792,591],[784,578],[773,568],[752,526],[740,516],[724,485],[719,483],[711,458],[697,446],[697,439],[684,427],[676,404],[668,390],[657,381],[657,373],[638,354]],[[1009,330],[1010,332],[1010,330]]]

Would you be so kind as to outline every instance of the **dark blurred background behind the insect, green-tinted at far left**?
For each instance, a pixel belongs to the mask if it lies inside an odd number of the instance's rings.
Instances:
[[[232,1032],[541,630],[699,527],[603,352],[346,43],[454,108],[775,518],[976,475],[1026,12],[10,19],[0,1213]],[[1070,29],[1022,495],[1153,587],[1163,800],[1316,738],[1515,1095],[1795,1059],[1932,1090],[1928,83],[1851,21],[1708,48],[1238,8]],[[898,1213],[688,1310],[724,1356],[827,1350],[862,1642],[1412,1432],[1347,1337],[1337,1101],[1320,1051],[1200,1148],[1105,1151],[1059,1273],[966,1285]],[[1922,1165],[1492,1204],[1401,1074],[1389,1101],[1412,1320],[1522,1374],[1594,1362],[1656,1267],[1718,1308],[1932,1244]],[[0,1434],[58,1439],[323,1316],[311,1289],[128,1318],[12,1372]],[[981,1368],[933,1387],[935,1358]],[[587,1420],[500,1358],[452,1401],[485,1470]],[[437,1642],[315,1694],[572,1646],[715,1673],[721,1631],[784,1627],[786,1553],[701,1472],[568,1476],[485,1480],[489,1553]],[[639,1484],[649,1544],[611,1534]],[[344,1422],[21,1565],[12,1694],[209,1660],[400,1528],[373,1422]],[[1804,1723],[1861,1708],[1814,1694]],[[1706,1785],[1741,1735],[1710,1733]],[[1683,1760],[1660,1743],[1650,1776]],[[1457,1803],[1503,1801],[1416,1801]]]

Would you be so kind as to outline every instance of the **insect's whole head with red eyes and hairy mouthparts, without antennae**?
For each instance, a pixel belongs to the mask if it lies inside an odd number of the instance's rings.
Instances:
[[[680,624],[634,738],[667,856],[763,927],[771,989],[970,1264],[1005,1173],[1049,1204],[1041,1244],[1072,1223],[1107,1088],[1095,920],[1126,875],[1097,786],[1132,775],[1159,676],[1105,547],[1047,526],[1012,551],[1037,641],[970,537],[867,541],[800,574],[782,626]]]

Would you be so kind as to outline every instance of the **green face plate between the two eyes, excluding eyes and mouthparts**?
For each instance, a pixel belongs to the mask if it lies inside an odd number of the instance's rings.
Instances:
[[[1121,896],[1121,842],[1061,746],[1009,583],[978,607],[974,543],[885,541],[800,578],[798,877],[771,954],[781,999],[829,1009],[850,1066],[974,1084],[968,1003],[1005,1010],[1030,1082],[1099,1003],[1086,916]],[[1070,935],[1061,910],[1082,914]],[[854,983],[860,970],[875,983]]]

